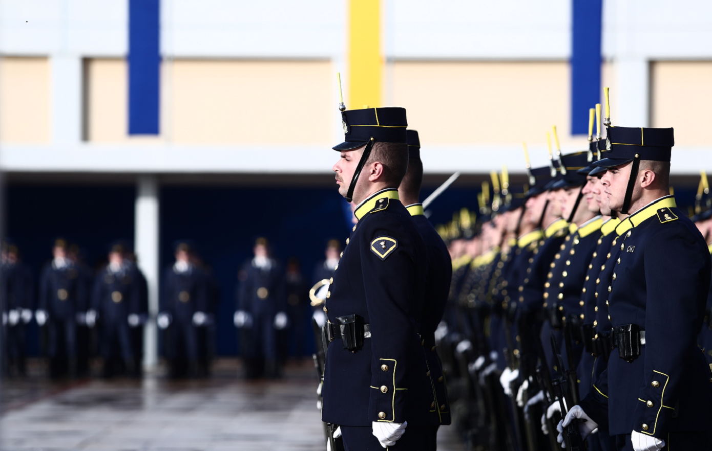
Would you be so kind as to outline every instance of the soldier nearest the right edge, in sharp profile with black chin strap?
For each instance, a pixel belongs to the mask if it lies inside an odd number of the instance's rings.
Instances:
[[[609,125],[607,119],[607,125]],[[673,129],[607,128],[602,183],[619,256],[606,287],[614,345],[595,390],[563,420],[587,435],[608,423],[618,450],[709,449],[712,372],[696,339],[712,262],[669,195]],[[562,437],[560,437],[562,440]]]

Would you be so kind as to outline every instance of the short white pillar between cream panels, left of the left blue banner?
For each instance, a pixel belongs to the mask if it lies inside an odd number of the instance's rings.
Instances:
[[[52,142],[65,150],[82,140],[82,59],[59,53],[50,59]]]

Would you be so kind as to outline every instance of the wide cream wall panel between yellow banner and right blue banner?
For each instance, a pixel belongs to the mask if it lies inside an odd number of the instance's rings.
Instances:
[[[396,62],[394,101],[424,143],[542,143],[552,124],[570,129],[569,71],[565,62]]]

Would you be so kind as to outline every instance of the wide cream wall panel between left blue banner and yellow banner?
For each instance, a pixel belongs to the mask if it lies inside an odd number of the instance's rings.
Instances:
[[[331,141],[331,63],[175,60],[170,72],[175,143]]]

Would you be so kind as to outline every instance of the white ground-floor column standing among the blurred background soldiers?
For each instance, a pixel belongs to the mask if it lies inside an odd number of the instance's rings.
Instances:
[[[149,320],[144,329],[143,366],[150,370],[158,362],[158,180],[155,175],[141,175],[137,184],[135,250],[138,266],[148,282]]]

